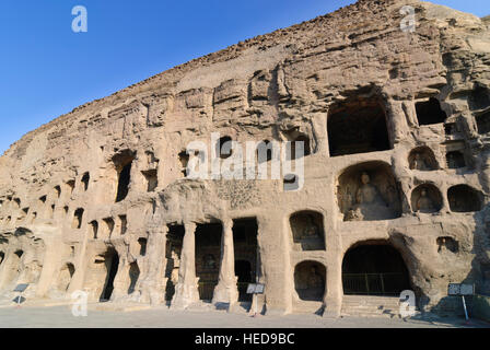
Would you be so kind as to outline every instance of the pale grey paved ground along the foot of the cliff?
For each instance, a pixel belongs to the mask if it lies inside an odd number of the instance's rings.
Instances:
[[[323,318],[316,315],[258,316],[225,312],[176,312],[165,307],[114,312],[89,308],[86,317],[74,317],[71,308],[5,307],[0,308],[0,328],[490,328],[490,324],[474,320],[465,325],[460,318],[439,318],[431,322],[389,318]]]

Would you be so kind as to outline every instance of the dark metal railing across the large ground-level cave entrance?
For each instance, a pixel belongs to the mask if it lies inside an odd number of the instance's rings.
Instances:
[[[404,273],[342,273],[345,294],[357,295],[399,295],[407,288]]]

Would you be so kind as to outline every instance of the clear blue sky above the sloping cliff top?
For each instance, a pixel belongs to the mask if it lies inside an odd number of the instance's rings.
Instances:
[[[86,102],[352,0],[1,0],[0,154]],[[488,0],[435,0],[479,16]],[[88,9],[73,33],[71,9]]]

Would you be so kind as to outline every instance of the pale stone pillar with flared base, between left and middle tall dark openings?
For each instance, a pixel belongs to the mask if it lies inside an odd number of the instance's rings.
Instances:
[[[178,283],[171,308],[184,310],[199,301],[198,278],[196,278],[196,224],[185,223],[184,242],[178,269]]]

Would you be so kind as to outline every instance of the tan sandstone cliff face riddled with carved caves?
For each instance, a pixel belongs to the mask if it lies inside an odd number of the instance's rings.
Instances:
[[[345,294],[406,289],[422,311],[451,310],[450,282],[490,293],[489,132],[488,21],[361,0],[13,144],[0,159],[1,299],[30,283],[27,300],[84,290],[91,301],[233,307],[259,282],[269,314],[339,315]],[[215,133],[303,141],[291,158],[304,174],[186,178],[186,149],[213,150]]]

